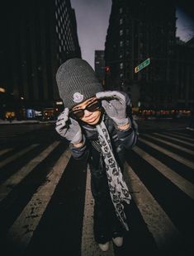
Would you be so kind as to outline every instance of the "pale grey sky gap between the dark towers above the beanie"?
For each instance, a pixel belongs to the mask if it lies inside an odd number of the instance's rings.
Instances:
[[[82,58],[94,67],[94,51],[104,50],[111,0],[71,0]]]

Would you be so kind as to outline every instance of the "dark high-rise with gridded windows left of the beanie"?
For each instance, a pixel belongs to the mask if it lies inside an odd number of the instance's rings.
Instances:
[[[1,7],[0,84],[23,108],[54,107],[55,73],[81,57],[70,0],[19,0]]]

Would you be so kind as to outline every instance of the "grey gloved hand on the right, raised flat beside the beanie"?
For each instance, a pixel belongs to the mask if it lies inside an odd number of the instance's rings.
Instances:
[[[121,92],[106,91],[97,92],[96,97],[102,99],[102,107],[106,114],[116,122],[117,126],[125,126],[129,123],[129,118],[126,117],[126,99]]]

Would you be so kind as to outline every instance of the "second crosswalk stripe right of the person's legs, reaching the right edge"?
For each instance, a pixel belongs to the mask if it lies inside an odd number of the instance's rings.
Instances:
[[[165,164],[161,163],[158,159],[155,159],[150,154],[146,153],[143,149],[135,146],[133,149],[136,154],[139,154],[141,158],[147,161],[149,164],[154,166],[160,173],[163,174],[166,178],[168,178],[172,183],[174,183],[177,187],[179,187],[182,192],[185,192],[187,196],[194,199],[194,185],[188,182],[185,178],[173,172],[171,168],[168,168]]]

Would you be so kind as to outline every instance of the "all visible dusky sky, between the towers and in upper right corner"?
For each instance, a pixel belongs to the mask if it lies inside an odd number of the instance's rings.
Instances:
[[[75,10],[82,58],[94,67],[94,51],[104,50],[111,13],[111,0],[70,0]],[[177,36],[194,36],[193,7],[189,0],[177,1]]]

